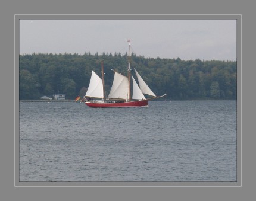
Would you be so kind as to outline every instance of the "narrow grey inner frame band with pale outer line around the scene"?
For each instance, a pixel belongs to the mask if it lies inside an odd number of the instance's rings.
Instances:
[[[191,19],[191,20],[236,20],[237,21],[237,180],[236,182],[20,182],[19,181],[19,94],[18,94],[18,69],[19,69],[19,20],[106,20],[106,19],[130,19],[130,20],[174,20],[174,19]],[[208,187],[222,187],[222,186],[242,186],[242,126],[241,126],[241,112],[242,112],[242,98],[241,98],[241,88],[242,88],[242,58],[241,58],[241,36],[242,36],[242,15],[15,15],[15,134],[14,134],[14,143],[15,143],[15,162],[14,162],[14,186],[55,186],[55,187],[75,187],[75,186],[88,186],[88,187],[143,187],[143,186],[153,186],[153,187],[189,187],[189,186],[208,186]]]

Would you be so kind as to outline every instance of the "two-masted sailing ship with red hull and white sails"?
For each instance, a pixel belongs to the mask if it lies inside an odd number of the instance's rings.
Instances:
[[[146,107],[148,101],[164,97],[166,94],[157,96],[148,87],[142,77],[136,71],[135,74],[138,78],[139,85],[136,83],[135,78],[131,74],[130,67],[130,40],[129,42],[129,62],[128,62],[128,76],[121,75],[117,71],[114,71],[114,80],[108,94],[107,99],[105,98],[105,86],[104,86],[104,68],[101,62],[102,78],[100,78],[93,70],[90,78],[88,90],[85,94],[85,104],[89,107]],[[133,92],[131,94],[131,80],[133,84]],[[145,98],[144,94],[151,96]],[[95,99],[96,98],[96,99]],[[97,100],[98,99],[98,100]]]

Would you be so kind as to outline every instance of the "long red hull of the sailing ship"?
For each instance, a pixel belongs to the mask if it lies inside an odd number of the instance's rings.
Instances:
[[[132,101],[124,103],[92,103],[85,102],[89,107],[143,107],[148,106],[148,100]]]

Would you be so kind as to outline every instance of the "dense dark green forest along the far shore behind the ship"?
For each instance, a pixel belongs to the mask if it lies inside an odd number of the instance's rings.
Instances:
[[[105,90],[108,94],[114,73],[127,74],[129,56],[102,53],[20,55],[20,100],[39,99],[43,95],[66,94],[67,99],[85,95],[92,69],[101,76],[104,63]],[[145,58],[132,53],[136,68],[156,95],[168,100],[236,100],[236,62]],[[132,71],[134,75],[134,72]]]

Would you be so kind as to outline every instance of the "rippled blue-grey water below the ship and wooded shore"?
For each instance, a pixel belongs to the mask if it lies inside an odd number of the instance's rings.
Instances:
[[[236,101],[20,103],[20,181],[236,181]]]

